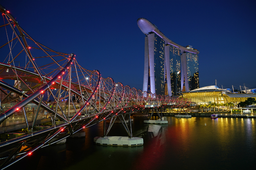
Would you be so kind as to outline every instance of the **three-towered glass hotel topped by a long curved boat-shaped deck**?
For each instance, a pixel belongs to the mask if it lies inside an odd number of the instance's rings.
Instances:
[[[172,96],[199,88],[199,51],[171,41],[145,18],[137,24],[146,35],[143,92]]]

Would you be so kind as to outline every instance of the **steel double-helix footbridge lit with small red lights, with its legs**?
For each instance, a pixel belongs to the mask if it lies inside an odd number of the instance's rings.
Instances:
[[[131,114],[150,110],[162,120],[163,109],[190,107],[187,99],[101,77],[100,71],[80,65],[75,54],[35,41],[11,12],[1,5],[0,10],[0,169],[107,119],[108,133],[117,118],[125,122]]]

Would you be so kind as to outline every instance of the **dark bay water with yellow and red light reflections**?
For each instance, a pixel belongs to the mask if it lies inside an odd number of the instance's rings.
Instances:
[[[166,116],[167,125],[145,124],[146,119],[134,117],[132,122],[133,136],[142,137],[143,146],[94,144],[93,138],[103,134],[101,122],[85,129],[86,137],[68,138],[66,144],[41,148],[7,169],[255,169],[255,118]],[[108,135],[127,133],[122,124],[115,123]]]

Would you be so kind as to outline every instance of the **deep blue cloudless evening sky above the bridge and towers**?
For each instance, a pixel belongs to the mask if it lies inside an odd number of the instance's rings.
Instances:
[[[142,89],[145,35],[138,18],[200,51],[200,87],[256,88],[255,0],[0,0],[36,41],[75,53],[86,69]]]

